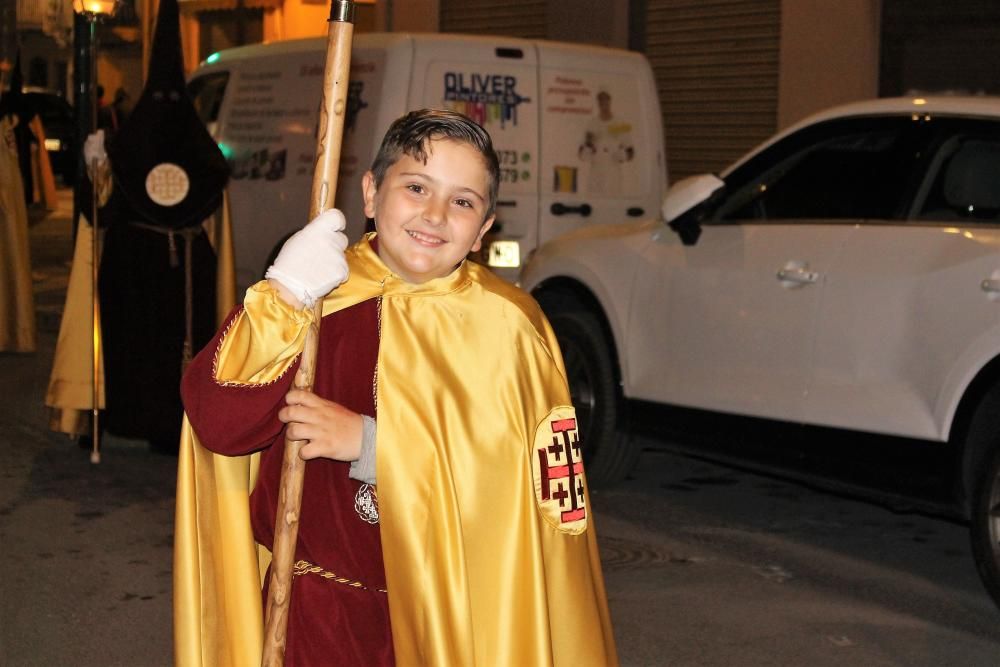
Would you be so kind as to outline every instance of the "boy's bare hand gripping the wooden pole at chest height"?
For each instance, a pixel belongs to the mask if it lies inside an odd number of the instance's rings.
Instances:
[[[292,389],[278,419],[288,424],[291,440],[307,440],[299,456],[356,461],[361,456],[361,415],[311,391]]]

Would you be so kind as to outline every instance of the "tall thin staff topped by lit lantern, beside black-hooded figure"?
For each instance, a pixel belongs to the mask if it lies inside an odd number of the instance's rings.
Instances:
[[[97,23],[98,21],[113,16],[115,13],[115,8],[117,5],[117,0],[73,0],[73,11],[76,13],[80,19],[82,19],[87,25],[87,60],[88,62],[88,76],[87,80],[84,81],[83,77],[78,76],[78,81],[80,85],[77,88],[77,113],[78,118],[82,119],[83,104],[89,102],[90,107],[90,122],[87,123],[89,127],[87,128],[88,134],[97,129],[97,96],[94,94],[97,86]],[[76,33],[77,38],[81,37],[81,32]],[[79,45],[77,47],[77,53],[81,53]],[[78,133],[81,135],[82,139],[82,129],[84,123],[77,123]],[[78,150],[82,149],[83,142],[77,142]],[[83,170],[86,172],[86,169]],[[91,275],[91,293],[90,293],[90,327],[91,327],[91,450],[90,450],[90,462],[100,463],[101,462],[101,447],[100,447],[100,426],[98,423],[98,412],[100,411],[99,402],[99,389],[100,389],[100,364],[101,364],[101,322],[100,322],[100,310],[97,303],[97,267],[98,267],[98,227],[97,227],[97,162],[95,160],[94,164],[91,165],[91,217],[90,217],[90,232],[91,232],[91,244],[90,244],[90,275]],[[86,178],[86,174],[78,174]],[[80,187],[81,180],[77,179],[77,188]],[[74,199],[78,199],[74,197]],[[75,208],[75,207],[74,207]],[[73,221],[76,224],[76,220]]]

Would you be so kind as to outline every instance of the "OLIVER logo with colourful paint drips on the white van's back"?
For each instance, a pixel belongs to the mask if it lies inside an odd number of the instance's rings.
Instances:
[[[518,107],[531,98],[517,91],[517,77],[510,74],[444,73],[444,102],[483,127],[499,122],[517,125]]]

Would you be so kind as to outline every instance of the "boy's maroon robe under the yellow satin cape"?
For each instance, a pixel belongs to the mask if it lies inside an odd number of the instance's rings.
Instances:
[[[230,456],[263,450],[260,475],[250,496],[251,521],[257,542],[270,549],[285,448],[278,411],[285,405],[298,362],[270,385],[223,386],[212,371],[227,328],[228,323],[195,357],[181,394],[191,425],[206,448]],[[313,390],[374,417],[377,359],[376,301],[331,313],[320,327]],[[365,588],[317,574],[293,577],[288,665],[394,664],[388,598],[379,591],[386,587],[379,527],[355,512],[360,482],[348,477],[349,467],[329,459],[306,463],[295,560],[307,560]]]

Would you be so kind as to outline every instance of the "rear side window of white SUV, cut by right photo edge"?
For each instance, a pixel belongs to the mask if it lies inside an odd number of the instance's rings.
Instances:
[[[932,151],[912,217],[961,224],[1000,222],[1000,126],[951,120]]]

